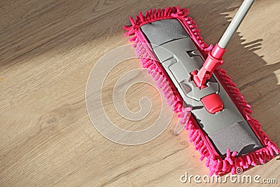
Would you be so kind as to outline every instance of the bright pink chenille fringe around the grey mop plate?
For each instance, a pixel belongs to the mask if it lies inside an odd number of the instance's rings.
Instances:
[[[186,129],[189,131],[188,137],[190,142],[193,142],[195,150],[199,151],[201,154],[200,160],[206,159],[206,166],[209,167],[210,170],[209,176],[213,174],[223,175],[228,172],[236,174],[237,168],[247,169],[250,166],[264,164],[266,161],[274,158],[274,153],[278,155],[279,148],[277,148],[276,144],[262,131],[258,120],[251,118],[251,106],[244,100],[244,97],[236,88],[236,84],[232,82],[230,76],[226,74],[224,69],[217,69],[214,72],[215,76],[228,92],[232,101],[235,102],[242,116],[248,120],[249,125],[264,147],[241,156],[237,156],[237,152],[231,152],[230,149],[228,149],[225,158],[221,158],[207,135],[197,124],[193,115],[191,115],[188,120],[190,108],[183,107],[181,95],[179,95],[179,92],[176,90],[176,87],[169,79],[166,72],[162,70],[151,46],[148,44],[146,37],[140,29],[141,25],[145,25],[146,23],[169,18],[177,19],[181,22],[193,41],[200,48],[202,55],[207,57],[207,53],[213,46],[204,43],[202,36],[200,36],[200,29],[197,29],[195,21],[188,17],[187,8],[180,8],[177,6],[158,10],[153,9],[146,11],[145,15],[140,12],[135,19],[130,17],[130,22],[132,24],[130,27],[124,26],[124,29],[127,30],[125,36],[132,36],[129,41],[134,42],[134,47],[136,48],[136,53],[141,60],[142,66],[148,69],[148,73],[151,74],[157,82],[158,88],[162,90],[167,99],[167,104],[172,106],[175,113],[179,113],[178,117],[181,120],[181,124],[186,125]]]

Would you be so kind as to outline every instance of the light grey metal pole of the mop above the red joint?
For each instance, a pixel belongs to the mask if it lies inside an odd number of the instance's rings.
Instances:
[[[239,10],[237,11],[237,14],[235,15],[235,18],[233,18],[232,22],[230,22],[228,29],[226,29],[221,40],[218,42],[218,46],[220,46],[221,48],[227,47],[228,42],[232,38],[233,34],[235,34],[237,28],[241,24],[242,20],[245,18],[246,14],[248,13],[248,10],[251,8],[254,1],[255,0],[243,1]]]

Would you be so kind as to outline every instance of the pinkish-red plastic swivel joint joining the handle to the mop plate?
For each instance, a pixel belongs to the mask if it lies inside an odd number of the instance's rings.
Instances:
[[[202,89],[206,87],[206,83],[211,77],[212,73],[217,69],[221,64],[223,64],[223,54],[226,49],[221,48],[216,44],[215,48],[208,53],[208,57],[205,60],[203,67],[199,71],[193,71],[193,81],[198,88]]]

